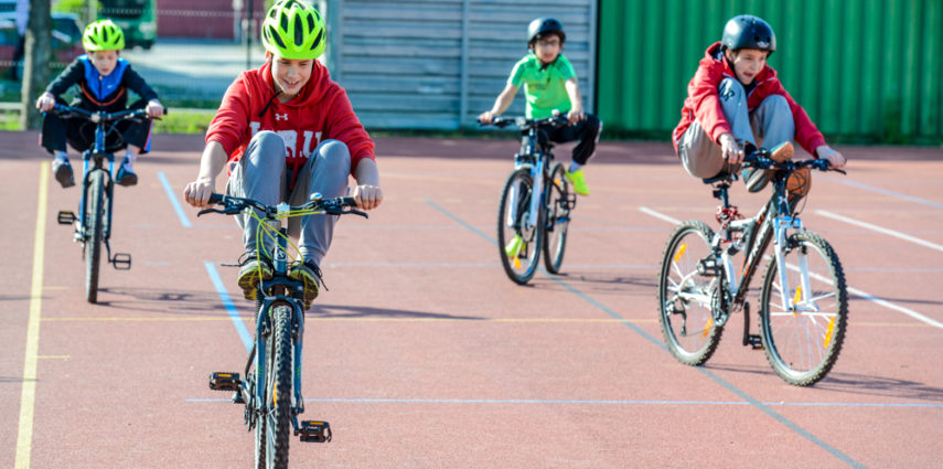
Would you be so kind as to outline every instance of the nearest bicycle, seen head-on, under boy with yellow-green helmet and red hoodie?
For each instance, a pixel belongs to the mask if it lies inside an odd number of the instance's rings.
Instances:
[[[210,388],[234,391],[233,402],[244,404],[244,422],[255,430],[255,467],[287,468],[289,428],[301,441],[326,443],[332,438],[325,420],[302,420],[301,351],[304,337],[304,285],[288,277],[288,227],[281,223],[294,216],[329,214],[367,214],[355,209],[353,198],[322,199],[320,194],[298,206],[286,203],[266,205],[251,199],[212,194],[212,204],[223,209],[204,209],[205,213],[250,214],[259,222],[257,244],[264,237],[275,237],[270,260],[272,278],[262,280],[259,274],[256,294],[256,333],[244,370],[239,373],[210,374]],[[259,214],[256,213],[259,212]],[[262,252],[264,249],[258,249]]]

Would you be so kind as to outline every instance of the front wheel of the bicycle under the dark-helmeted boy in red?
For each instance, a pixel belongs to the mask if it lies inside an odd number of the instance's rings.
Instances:
[[[776,374],[808,386],[832,370],[845,341],[845,273],[832,246],[812,232],[792,234],[784,251],[785,265],[773,258],[763,277],[761,338]]]

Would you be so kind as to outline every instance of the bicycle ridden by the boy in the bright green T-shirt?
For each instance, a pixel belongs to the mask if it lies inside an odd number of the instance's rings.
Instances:
[[[558,162],[550,167],[553,143],[538,139],[542,127],[568,125],[566,115],[543,119],[495,117],[492,121],[499,128],[512,124],[523,138],[521,151],[514,156],[514,171],[501,192],[497,249],[507,277],[525,285],[537,270],[542,251],[547,270],[559,274],[576,194],[570,192],[564,166]]]

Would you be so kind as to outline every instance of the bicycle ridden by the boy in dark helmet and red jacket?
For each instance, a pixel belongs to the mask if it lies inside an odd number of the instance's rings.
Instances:
[[[832,370],[848,317],[848,292],[842,263],[822,236],[806,230],[786,183],[802,168],[837,171],[826,160],[775,162],[760,150],[744,168],[772,171],[773,193],[756,216],[743,218],[731,205],[728,189],[735,174],[705,179],[720,200],[717,233],[704,222],[678,224],[668,237],[658,275],[662,331],[682,363],[700,365],[714,354],[730,315],[743,311],[743,345],[762,349],[785,382],[813,385]],[[750,280],[760,257],[773,253],[760,288],[760,334],[750,333]],[[739,275],[733,257],[746,253]]]

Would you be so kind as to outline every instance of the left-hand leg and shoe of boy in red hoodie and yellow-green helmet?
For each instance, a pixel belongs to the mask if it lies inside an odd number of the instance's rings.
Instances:
[[[268,205],[277,204],[281,201],[285,184],[285,141],[271,131],[256,134],[232,171],[226,182],[226,194]],[[245,262],[239,269],[239,287],[246,299],[255,299],[259,277],[265,280],[271,278],[268,257],[272,238],[262,236],[261,245],[257,245],[258,222],[248,214],[236,215],[236,223],[243,228],[246,248]]]

